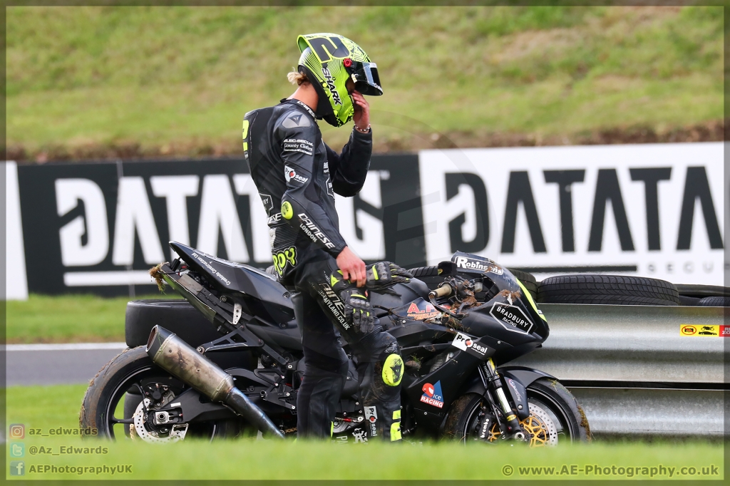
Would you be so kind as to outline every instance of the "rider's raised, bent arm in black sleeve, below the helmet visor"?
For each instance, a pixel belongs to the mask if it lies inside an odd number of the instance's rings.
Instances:
[[[338,154],[327,147],[327,161],[334,192],[340,196],[352,197],[360,192],[372,153],[372,130],[363,134],[353,129],[350,141]]]

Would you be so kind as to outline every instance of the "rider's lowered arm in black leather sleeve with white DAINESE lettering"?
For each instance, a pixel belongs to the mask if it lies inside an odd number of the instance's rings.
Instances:
[[[296,121],[287,118],[297,117]],[[301,120],[306,120],[302,122]],[[286,191],[281,198],[281,215],[295,228],[307,235],[312,242],[337,258],[347,246],[320,206],[315,180],[312,177],[317,128],[301,114],[293,113],[277,123],[275,139],[281,144],[284,162]]]

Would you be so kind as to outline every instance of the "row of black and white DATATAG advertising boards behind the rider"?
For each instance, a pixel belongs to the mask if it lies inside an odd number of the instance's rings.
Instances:
[[[9,298],[150,292],[169,240],[271,264],[242,160],[6,166]],[[461,250],[537,277],[722,285],[727,187],[721,143],[426,150],[374,155],[361,193],[337,207],[366,261],[422,266]]]

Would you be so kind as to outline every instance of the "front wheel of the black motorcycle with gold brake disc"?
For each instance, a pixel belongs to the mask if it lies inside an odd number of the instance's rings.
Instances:
[[[541,378],[532,382],[527,387],[527,402],[530,415],[520,420],[520,425],[531,447],[590,440],[591,431],[583,409],[572,393],[556,380]],[[485,425],[485,420],[490,422]],[[454,401],[444,436],[464,443],[498,443],[504,439],[485,398],[477,393],[466,393]]]

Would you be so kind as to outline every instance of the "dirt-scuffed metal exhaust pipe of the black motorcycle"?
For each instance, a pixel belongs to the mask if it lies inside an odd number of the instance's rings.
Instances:
[[[147,340],[147,355],[153,363],[203,393],[212,401],[231,407],[237,414],[255,425],[264,436],[283,439],[284,434],[234,386],[233,377],[220,366],[201,355],[193,347],[167,329],[155,325]]]

